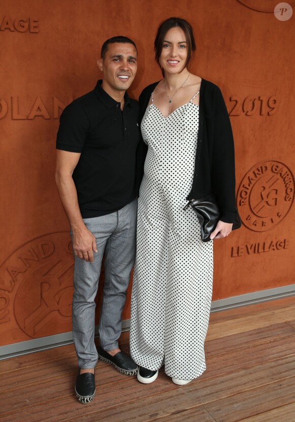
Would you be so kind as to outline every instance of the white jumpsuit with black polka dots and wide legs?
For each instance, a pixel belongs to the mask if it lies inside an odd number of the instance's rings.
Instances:
[[[155,371],[165,363],[168,376],[184,380],[206,369],[213,279],[213,241],[201,241],[196,215],[191,207],[183,210],[197,147],[199,109],[192,100],[165,118],[152,94],[141,123],[148,150],[138,201],[130,329],[131,356],[138,365]]]

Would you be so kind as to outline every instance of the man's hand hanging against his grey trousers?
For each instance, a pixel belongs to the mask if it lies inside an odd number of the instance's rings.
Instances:
[[[93,262],[93,251],[97,252],[96,239],[86,227],[73,229],[73,249],[76,257]]]

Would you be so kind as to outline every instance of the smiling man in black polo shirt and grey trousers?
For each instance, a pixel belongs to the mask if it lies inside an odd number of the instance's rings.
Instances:
[[[134,42],[122,36],[105,41],[98,67],[103,79],[64,109],[56,140],[55,179],[75,255],[72,322],[79,364],[75,391],[81,403],[89,403],[95,395],[98,358],[125,375],[137,372],[137,365],[117,342],[135,259],[139,105],[126,93],[137,70]],[[94,300],[103,254],[105,284],[97,350]]]

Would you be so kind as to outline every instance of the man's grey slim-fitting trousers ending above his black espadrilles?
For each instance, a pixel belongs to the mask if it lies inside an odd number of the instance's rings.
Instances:
[[[94,344],[95,297],[105,256],[105,282],[99,322],[100,346],[118,347],[122,330],[122,311],[130,272],[135,260],[137,200],[119,211],[83,221],[96,238],[94,262],[75,257],[72,304],[73,340],[81,369],[94,368],[97,350]],[[71,233],[72,235],[72,233]]]

